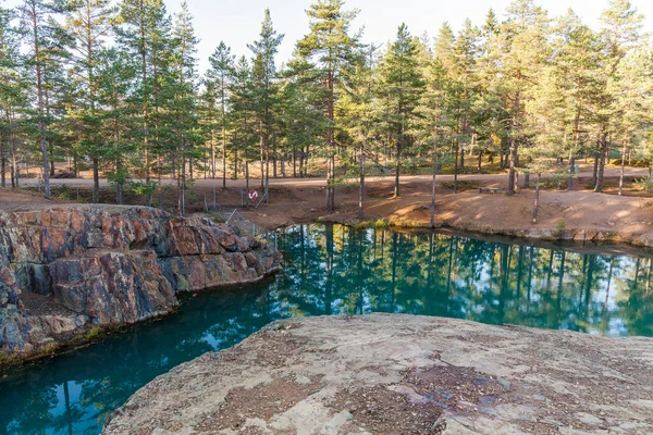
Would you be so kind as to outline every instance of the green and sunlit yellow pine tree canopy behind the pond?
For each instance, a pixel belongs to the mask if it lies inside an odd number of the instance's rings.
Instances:
[[[38,163],[49,198],[65,162],[73,176],[93,172],[94,202],[106,177],[116,203],[127,188],[151,203],[172,178],[183,214],[195,178],[224,187],[256,167],[266,189],[280,175],[325,176],[333,210],[341,177],[366,172],[394,173],[398,196],[414,167],[480,171],[490,159],[512,194],[518,173],[528,183],[565,160],[571,183],[589,158],[601,191],[611,150],[623,164],[653,161],[653,46],[627,0],[609,0],[597,28],[515,0],[434,38],[397,23],[382,46],[353,28],[344,1],[316,0],[283,64],[272,12],[249,53],[221,42],[200,73],[186,3],[174,15],[162,0],[0,7],[1,186]]]

